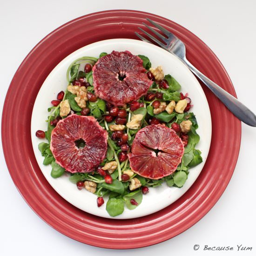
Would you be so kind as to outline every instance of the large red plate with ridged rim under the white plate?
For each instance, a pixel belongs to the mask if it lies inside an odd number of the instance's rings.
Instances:
[[[27,55],[7,93],[2,116],[2,143],[13,182],[38,216],[62,234],[82,243],[128,249],[172,238],[199,221],[213,207],[236,166],[241,122],[203,86],[212,117],[209,156],[193,186],[167,208],[136,219],[100,218],[65,201],[42,175],[30,138],[32,109],[41,84],[61,60],[80,47],[111,38],[136,39],[134,32],[146,17],[177,35],[186,45],[189,61],[236,96],[221,62],[194,34],[160,16],[127,10],[92,13],[54,30]],[[223,120],[229,125],[223,125]]]

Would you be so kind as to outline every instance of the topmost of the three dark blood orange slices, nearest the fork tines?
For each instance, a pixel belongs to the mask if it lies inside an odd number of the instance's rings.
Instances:
[[[152,82],[142,60],[128,51],[101,57],[93,67],[95,94],[115,106],[139,99]]]

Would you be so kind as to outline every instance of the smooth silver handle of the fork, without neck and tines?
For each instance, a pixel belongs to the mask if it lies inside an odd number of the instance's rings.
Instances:
[[[188,60],[183,62],[189,69],[224,103],[224,105],[241,121],[256,127],[256,115],[231,94],[196,69]]]

